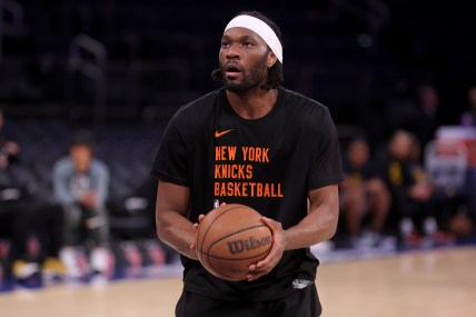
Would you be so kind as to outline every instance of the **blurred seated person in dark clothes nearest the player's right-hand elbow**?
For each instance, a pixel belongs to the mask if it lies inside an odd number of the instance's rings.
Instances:
[[[350,242],[355,247],[375,246],[390,206],[383,180],[376,177],[365,139],[350,141],[343,160],[345,180],[340,184],[341,208]],[[364,217],[371,217],[368,230],[361,230]]]

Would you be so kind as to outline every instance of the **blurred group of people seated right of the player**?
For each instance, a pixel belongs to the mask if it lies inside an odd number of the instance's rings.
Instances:
[[[462,129],[476,128],[476,86],[468,89],[467,102],[454,122]],[[380,136],[363,132],[344,146],[340,224],[350,246],[375,247],[387,236],[419,246],[474,235],[473,146],[438,140],[439,107],[435,87],[422,85],[416,98],[401,93],[388,102],[388,141],[375,145]]]

